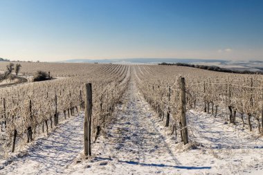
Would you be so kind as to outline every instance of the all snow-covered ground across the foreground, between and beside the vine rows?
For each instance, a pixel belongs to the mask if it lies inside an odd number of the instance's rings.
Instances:
[[[262,136],[226,125],[224,118],[189,111],[190,144],[183,145],[134,81],[113,118],[89,160],[83,156],[80,114],[37,140],[0,174],[263,174]]]

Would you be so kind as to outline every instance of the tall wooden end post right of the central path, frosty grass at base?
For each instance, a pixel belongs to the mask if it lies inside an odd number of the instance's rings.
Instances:
[[[185,78],[181,77],[181,122],[182,122],[182,133],[183,143],[188,144],[188,129],[186,122],[186,100],[185,100]]]

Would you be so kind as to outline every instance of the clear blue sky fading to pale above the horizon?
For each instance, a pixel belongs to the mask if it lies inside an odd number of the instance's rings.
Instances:
[[[0,0],[0,57],[263,60],[260,0]]]

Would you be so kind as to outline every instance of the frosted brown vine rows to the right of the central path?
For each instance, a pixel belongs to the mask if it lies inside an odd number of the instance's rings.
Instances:
[[[242,121],[249,131],[257,127],[258,133],[262,133],[262,75],[215,73],[174,66],[137,66],[135,73],[140,91],[160,118],[166,116],[167,127],[170,118],[165,114],[172,114],[172,132],[181,125],[179,77],[185,77],[187,111],[199,109],[215,118],[223,116],[225,122],[233,125]]]

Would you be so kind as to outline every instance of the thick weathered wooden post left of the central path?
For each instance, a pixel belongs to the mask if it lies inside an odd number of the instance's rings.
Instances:
[[[84,117],[84,154],[91,156],[91,112],[92,112],[92,89],[91,83],[85,84],[85,117]]]

